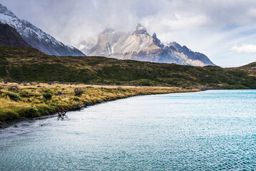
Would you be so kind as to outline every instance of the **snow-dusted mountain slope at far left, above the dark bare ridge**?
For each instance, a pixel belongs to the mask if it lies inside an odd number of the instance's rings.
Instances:
[[[0,4],[0,23],[8,24],[18,31],[21,37],[39,51],[56,56],[85,56],[73,46],[68,46],[37,28],[29,21],[19,19],[6,6]]]

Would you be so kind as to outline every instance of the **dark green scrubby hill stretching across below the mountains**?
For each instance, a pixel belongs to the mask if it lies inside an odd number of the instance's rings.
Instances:
[[[195,67],[99,56],[48,56],[34,48],[0,46],[0,78],[4,81],[256,88],[255,73],[255,63],[240,68]]]

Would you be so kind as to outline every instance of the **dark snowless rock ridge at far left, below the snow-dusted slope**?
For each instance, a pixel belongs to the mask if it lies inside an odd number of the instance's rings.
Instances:
[[[21,35],[8,24],[0,24],[0,45],[1,46],[19,46],[31,47]]]

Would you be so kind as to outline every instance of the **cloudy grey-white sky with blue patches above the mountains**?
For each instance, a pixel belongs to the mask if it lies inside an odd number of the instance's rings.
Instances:
[[[162,42],[204,53],[218,66],[256,61],[255,0],[0,0],[58,41],[79,48],[105,28],[138,23]]]

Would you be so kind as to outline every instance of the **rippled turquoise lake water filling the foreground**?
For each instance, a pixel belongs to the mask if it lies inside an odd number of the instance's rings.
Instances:
[[[0,170],[253,170],[256,90],[145,95],[0,130]]]

